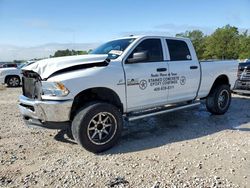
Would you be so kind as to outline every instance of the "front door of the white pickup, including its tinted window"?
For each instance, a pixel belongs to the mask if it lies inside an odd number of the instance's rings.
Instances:
[[[161,38],[143,39],[125,59],[128,111],[167,103],[167,86],[162,85],[168,75],[168,63],[164,61]],[[144,60],[128,62],[135,53],[147,53]]]

